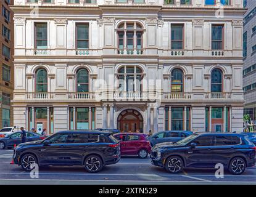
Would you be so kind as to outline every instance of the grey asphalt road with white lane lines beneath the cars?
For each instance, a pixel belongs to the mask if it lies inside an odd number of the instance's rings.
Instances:
[[[11,165],[13,150],[0,150],[0,184],[255,184],[256,167],[242,175],[225,172],[215,177],[215,169],[184,169],[181,174],[168,174],[161,167],[152,166],[147,159],[122,158],[119,163],[106,166],[97,174],[90,174],[83,166],[49,166],[39,169],[39,178],[31,179],[30,172]]]

